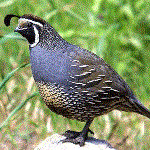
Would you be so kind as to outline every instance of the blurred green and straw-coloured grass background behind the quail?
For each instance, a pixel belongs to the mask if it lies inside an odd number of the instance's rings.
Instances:
[[[127,81],[150,109],[150,1],[148,0],[10,0],[0,2],[0,82],[12,70],[29,63],[27,41],[14,33],[17,19],[4,26],[6,14],[35,14],[48,21],[72,44],[100,57]],[[0,91],[1,147],[29,149],[55,132],[81,130],[83,123],[52,113],[40,96],[30,97],[37,87],[30,66],[20,69]],[[113,111],[95,118],[95,137],[118,149],[150,149],[150,124],[144,116]],[[33,137],[36,137],[33,138]],[[21,144],[18,144],[18,139]],[[31,141],[33,141],[31,143]],[[28,143],[28,144],[27,144]]]

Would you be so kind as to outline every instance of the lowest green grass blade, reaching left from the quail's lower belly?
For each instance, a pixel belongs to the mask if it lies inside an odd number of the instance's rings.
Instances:
[[[6,125],[6,123],[14,116],[14,114],[16,112],[18,112],[31,98],[33,98],[34,96],[37,96],[39,93],[35,92],[33,93],[30,97],[28,97],[24,102],[22,102],[19,106],[17,106],[11,113],[10,115],[7,117],[7,119],[2,123],[2,125],[0,126],[0,130]]]

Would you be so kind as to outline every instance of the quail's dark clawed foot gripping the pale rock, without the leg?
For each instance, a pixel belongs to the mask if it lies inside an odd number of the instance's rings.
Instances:
[[[91,134],[94,134],[93,131],[91,131],[90,129],[88,129],[88,132],[90,132]],[[62,140],[61,142],[63,143],[70,142],[73,144],[79,144],[80,146],[84,146],[85,141],[87,140],[87,137],[88,137],[87,134],[84,135],[82,132],[75,132],[75,131],[70,131],[70,130],[66,131],[62,135],[65,136],[66,139]]]

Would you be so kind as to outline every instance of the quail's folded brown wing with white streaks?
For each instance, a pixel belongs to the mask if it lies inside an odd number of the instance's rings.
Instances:
[[[102,58],[85,49],[76,51],[74,56],[74,65],[71,66],[72,82],[75,86],[82,87],[82,93],[98,94],[99,98],[131,95],[132,91],[127,83]]]

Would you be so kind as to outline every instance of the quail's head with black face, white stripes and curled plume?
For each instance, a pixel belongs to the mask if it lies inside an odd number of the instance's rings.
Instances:
[[[9,14],[6,15],[4,19],[6,26],[10,25],[10,20],[13,17],[17,17],[19,19],[18,26],[14,31],[20,33],[28,40],[30,46],[34,47],[39,42],[39,34],[43,30],[46,21],[31,14],[25,14],[23,16]]]

